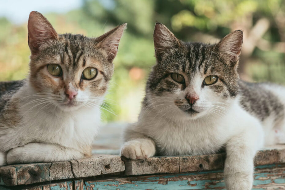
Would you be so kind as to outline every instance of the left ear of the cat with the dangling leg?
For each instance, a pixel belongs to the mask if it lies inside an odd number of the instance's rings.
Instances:
[[[154,26],[154,49],[155,54],[167,51],[169,48],[179,47],[180,42],[172,32],[163,24],[156,23]]]

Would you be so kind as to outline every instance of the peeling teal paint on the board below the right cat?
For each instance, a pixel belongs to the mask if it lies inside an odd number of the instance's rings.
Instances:
[[[261,165],[256,168],[263,169],[263,168],[274,168],[280,165],[272,164],[272,165]],[[84,189],[225,189],[225,184],[223,179],[217,180],[193,180],[188,181],[195,175],[199,174],[207,174],[207,173],[218,173],[222,172],[222,170],[218,171],[203,171],[203,172],[193,172],[193,173],[181,173],[176,175],[165,175],[165,176],[152,176],[148,177],[143,180],[139,181],[131,181],[130,183],[125,183],[124,181],[85,181]],[[272,173],[258,173],[254,176],[253,185],[257,186],[256,188],[253,187],[254,190],[265,190],[266,188],[260,187],[261,185],[272,184],[273,180],[268,179],[267,177],[272,175]],[[185,176],[185,177],[183,177]],[[180,179],[173,180],[175,177],[181,177]],[[183,177],[183,178],[182,178]],[[159,181],[159,179],[166,179],[164,181]],[[172,181],[167,181],[168,178]],[[135,179],[135,178],[134,178]],[[263,180],[266,179],[266,180]],[[163,183],[164,182],[164,183]],[[282,176],[279,176],[279,179],[274,179],[274,183],[276,184],[285,184],[285,179]]]

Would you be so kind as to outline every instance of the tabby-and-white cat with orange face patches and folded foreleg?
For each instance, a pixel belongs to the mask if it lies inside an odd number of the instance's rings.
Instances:
[[[58,35],[41,13],[30,13],[29,76],[0,84],[0,166],[91,156],[126,25],[97,38]]]

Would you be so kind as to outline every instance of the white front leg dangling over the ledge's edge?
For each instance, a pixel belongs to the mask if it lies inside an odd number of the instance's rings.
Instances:
[[[252,131],[253,132],[253,131]],[[234,136],[226,144],[224,178],[228,190],[249,190],[253,185],[254,157],[261,141],[257,131]]]

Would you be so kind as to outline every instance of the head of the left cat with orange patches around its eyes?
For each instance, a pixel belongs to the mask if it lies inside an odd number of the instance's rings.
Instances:
[[[100,105],[126,25],[97,38],[58,35],[41,13],[32,11],[28,21],[29,82],[38,97],[63,110]]]

